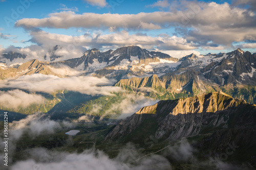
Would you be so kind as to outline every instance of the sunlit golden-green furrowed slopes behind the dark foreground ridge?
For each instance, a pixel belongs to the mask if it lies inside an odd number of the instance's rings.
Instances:
[[[115,86],[125,90],[142,92],[154,99],[177,99],[177,94],[194,96],[205,92],[203,83],[199,80],[198,72],[186,71],[176,75],[168,73],[160,78],[157,75],[145,78],[122,79]],[[145,89],[147,88],[147,89]],[[182,94],[183,95],[183,94]]]

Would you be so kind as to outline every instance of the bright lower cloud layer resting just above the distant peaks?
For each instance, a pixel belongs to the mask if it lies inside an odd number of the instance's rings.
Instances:
[[[148,27],[151,26],[148,25]],[[63,61],[82,56],[87,48],[97,48],[101,51],[107,51],[123,46],[137,45],[148,50],[164,52],[172,57],[176,57],[178,54],[196,53],[191,50],[198,48],[198,44],[188,42],[182,37],[169,35],[148,36],[146,34],[130,34],[127,31],[110,34],[87,33],[77,36],[54,34],[45,31],[30,32],[30,34],[32,36],[30,41],[37,45],[30,45],[24,48],[15,46],[1,48],[0,46],[0,52],[8,53],[12,51],[25,54],[27,58],[24,61],[30,61],[31,59],[45,61],[45,56],[46,61],[50,61],[51,52],[54,46],[58,44],[60,47],[57,48],[54,55],[62,57],[57,58],[55,61]]]

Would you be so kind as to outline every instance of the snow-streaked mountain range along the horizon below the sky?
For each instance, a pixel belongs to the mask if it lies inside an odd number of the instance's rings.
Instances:
[[[205,80],[219,85],[255,84],[256,54],[243,52],[240,48],[227,54],[191,54],[180,59],[160,52],[150,52],[138,46],[126,46],[106,52],[100,52],[93,48],[86,51],[81,57],[55,61],[55,59],[61,60],[62,57],[54,53],[58,48],[61,47],[56,45],[49,51],[51,55],[45,55],[41,60],[38,59],[41,64],[47,67],[64,64],[77,70],[85,70],[87,74],[94,73],[97,77],[106,76],[118,80],[129,77],[145,77],[150,74],[163,75],[169,72],[181,74],[187,70],[195,70],[199,71],[198,75]],[[18,67],[29,59],[30,62],[34,60],[26,54],[14,52],[2,54],[1,68],[3,70],[9,67]]]

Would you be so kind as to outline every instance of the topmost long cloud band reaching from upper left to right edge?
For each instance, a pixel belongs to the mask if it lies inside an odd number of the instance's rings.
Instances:
[[[189,7],[189,8],[188,8]],[[191,9],[193,7],[193,9]],[[229,4],[208,3],[201,9],[196,3],[187,3],[187,10],[174,12],[152,12],[138,14],[76,14],[71,11],[52,13],[48,18],[24,18],[16,22],[16,26],[27,28],[127,28],[138,29],[140,23],[153,23],[161,27],[172,27],[172,23],[180,22],[187,27],[218,26],[222,28],[241,28],[252,25],[254,13],[246,9],[231,7]],[[216,16],[216,17],[211,17]],[[207,18],[207,19],[206,19]],[[95,22],[97,20],[97,22]],[[158,28],[157,28],[158,29]]]

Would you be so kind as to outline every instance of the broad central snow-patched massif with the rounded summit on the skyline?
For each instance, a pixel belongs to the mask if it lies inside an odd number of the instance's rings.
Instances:
[[[126,46],[115,51],[109,50],[101,53],[97,49],[88,50],[80,58],[64,61],[72,68],[95,71],[105,67],[125,65],[126,69],[132,65],[142,65],[151,62],[159,62],[160,59],[177,62],[178,59],[160,52],[149,52],[139,46]],[[120,68],[119,68],[120,69]],[[112,70],[113,71],[113,70]]]

